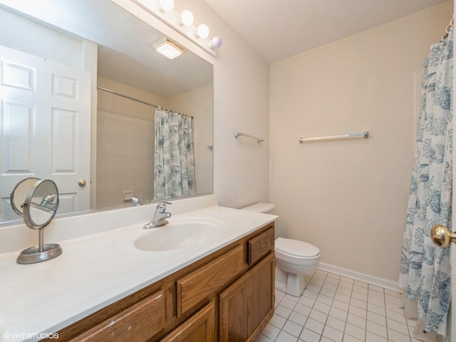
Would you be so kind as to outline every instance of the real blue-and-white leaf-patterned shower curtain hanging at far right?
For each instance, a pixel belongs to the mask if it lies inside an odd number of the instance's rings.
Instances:
[[[399,286],[418,302],[425,330],[445,336],[450,306],[450,248],[436,247],[430,229],[451,229],[453,30],[431,46],[423,61],[421,115],[408,214],[400,262]]]

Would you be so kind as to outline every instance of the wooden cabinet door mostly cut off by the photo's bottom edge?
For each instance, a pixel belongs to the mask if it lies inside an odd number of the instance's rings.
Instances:
[[[204,306],[161,342],[215,342],[215,304]]]

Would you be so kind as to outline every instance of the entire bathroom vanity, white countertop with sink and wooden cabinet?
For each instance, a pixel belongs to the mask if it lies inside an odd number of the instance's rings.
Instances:
[[[58,333],[61,341],[253,340],[274,313],[276,217],[218,207],[214,195],[177,200],[163,234],[177,229],[187,239],[179,229],[205,224],[214,232],[177,249],[162,235],[161,244],[146,250],[138,242],[152,233],[142,225],[154,208],[56,219],[48,235],[64,252],[45,262],[20,265],[17,252],[0,251],[6,275],[0,284],[0,341],[23,341],[24,333]],[[128,217],[128,227],[121,217]],[[86,225],[108,228],[58,236]],[[8,234],[0,229],[0,239],[11,239]],[[11,336],[19,338],[6,339]]]

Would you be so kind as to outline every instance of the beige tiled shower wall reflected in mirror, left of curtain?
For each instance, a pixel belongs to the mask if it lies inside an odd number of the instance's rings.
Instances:
[[[98,111],[97,207],[123,201],[133,191],[141,202],[153,199],[154,122]]]

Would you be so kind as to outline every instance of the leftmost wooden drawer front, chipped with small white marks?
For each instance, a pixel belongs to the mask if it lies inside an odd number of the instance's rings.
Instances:
[[[147,341],[165,326],[165,296],[158,291],[71,341]]]

